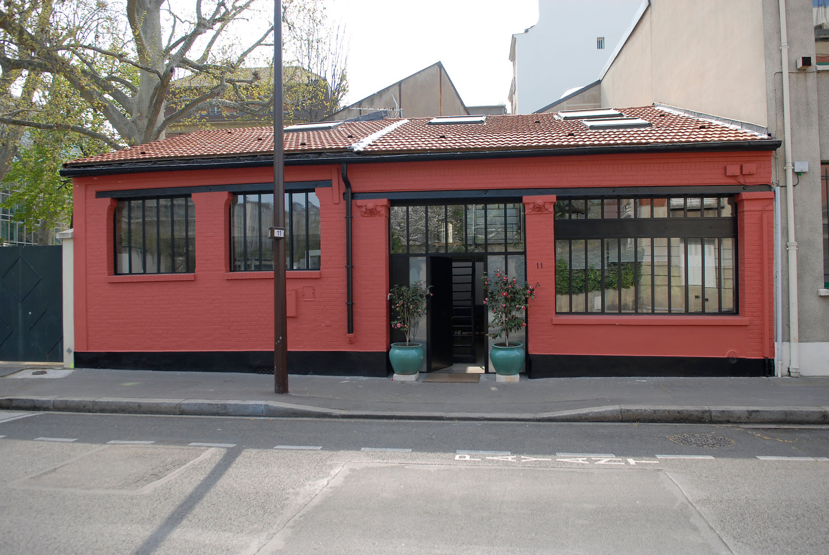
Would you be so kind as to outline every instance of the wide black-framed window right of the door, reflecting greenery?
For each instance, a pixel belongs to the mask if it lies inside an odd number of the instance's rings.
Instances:
[[[734,197],[555,203],[555,311],[736,314]]]

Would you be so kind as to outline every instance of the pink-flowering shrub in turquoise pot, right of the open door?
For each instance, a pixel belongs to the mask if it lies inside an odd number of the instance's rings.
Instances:
[[[516,278],[510,278],[507,273],[497,270],[494,278],[483,274],[483,303],[492,310],[492,323],[489,326],[489,336],[498,339],[502,335],[504,340],[492,345],[492,366],[495,367],[497,379],[515,381],[521,367],[524,365],[524,344],[519,341],[510,341],[510,333],[526,327],[526,306],[530,299],[536,298],[536,285],[524,283],[520,285]],[[511,379],[502,379],[502,376],[512,376]]]

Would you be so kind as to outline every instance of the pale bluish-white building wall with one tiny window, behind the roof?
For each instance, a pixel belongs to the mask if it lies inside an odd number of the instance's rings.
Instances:
[[[539,0],[536,25],[512,36],[512,113],[533,113],[594,82],[641,5],[642,0]]]

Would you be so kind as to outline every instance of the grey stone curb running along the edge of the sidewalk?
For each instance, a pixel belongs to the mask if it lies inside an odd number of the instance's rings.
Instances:
[[[829,407],[610,405],[548,413],[353,411],[275,401],[160,398],[0,398],[0,409],[170,416],[457,420],[473,422],[643,422],[664,424],[829,424]]]

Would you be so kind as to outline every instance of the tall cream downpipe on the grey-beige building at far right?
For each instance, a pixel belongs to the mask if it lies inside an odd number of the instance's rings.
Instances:
[[[780,60],[783,70],[783,152],[786,166],[786,224],[788,227],[788,374],[800,375],[800,344],[797,329],[797,240],[794,236],[794,188],[792,167],[792,121],[788,94],[788,37],[786,34],[786,0],[778,0],[780,9]]]

